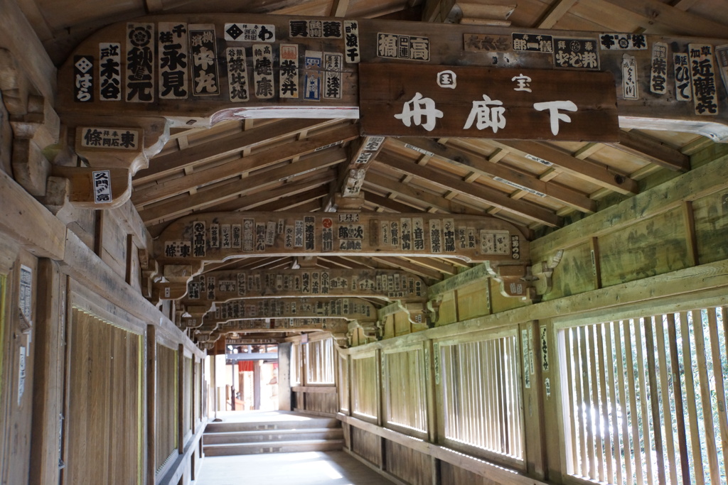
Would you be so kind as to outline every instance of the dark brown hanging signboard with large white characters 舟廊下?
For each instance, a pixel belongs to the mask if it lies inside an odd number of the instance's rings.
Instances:
[[[619,140],[612,73],[359,65],[365,135]]]

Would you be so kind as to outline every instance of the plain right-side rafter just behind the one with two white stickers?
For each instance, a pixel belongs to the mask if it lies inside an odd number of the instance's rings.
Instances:
[[[399,172],[425,179],[448,191],[456,191],[462,193],[463,196],[470,196],[486,202],[486,204],[499,207],[505,212],[510,212],[529,220],[535,220],[551,227],[559,227],[562,223],[561,217],[536,204],[531,204],[528,201],[510,199],[504,193],[494,191],[492,188],[464,182],[459,177],[448,175],[430,167],[422,167],[421,165],[410,163],[399,156],[394,156],[390,153],[381,153],[377,161],[387,164],[387,167]]]

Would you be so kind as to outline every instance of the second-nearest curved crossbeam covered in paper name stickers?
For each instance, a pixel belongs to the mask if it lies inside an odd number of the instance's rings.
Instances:
[[[162,265],[245,256],[346,254],[456,257],[522,265],[529,244],[513,224],[472,215],[213,212],[182,217],[154,243]]]

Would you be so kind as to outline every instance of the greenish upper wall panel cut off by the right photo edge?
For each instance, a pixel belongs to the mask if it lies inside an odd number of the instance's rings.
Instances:
[[[728,259],[728,191],[692,203],[700,264]]]

